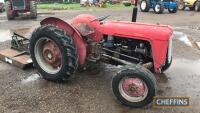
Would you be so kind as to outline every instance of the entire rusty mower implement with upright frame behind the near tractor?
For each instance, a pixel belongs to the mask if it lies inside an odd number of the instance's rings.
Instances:
[[[30,34],[29,28],[15,29],[11,40],[11,47],[0,51],[0,60],[25,69],[32,66],[32,60],[28,52]]]

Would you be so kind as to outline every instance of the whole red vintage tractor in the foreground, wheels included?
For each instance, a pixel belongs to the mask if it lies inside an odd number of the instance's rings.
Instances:
[[[66,81],[78,68],[97,70],[100,62],[124,65],[112,78],[112,91],[120,103],[143,107],[156,95],[153,73],[172,62],[173,30],[165,25],[103,21],[82,14],[69,24],[49,17],[30,39],[34,66],[44,79]],[[96,67],[96,68],[95,68]]]

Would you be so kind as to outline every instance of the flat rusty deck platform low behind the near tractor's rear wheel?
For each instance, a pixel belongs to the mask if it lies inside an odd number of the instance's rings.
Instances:
[[[32,66],[32,60],[26,51],[17,51],[14,49],[3,49],[0,51],[0,60],[25,69]]]

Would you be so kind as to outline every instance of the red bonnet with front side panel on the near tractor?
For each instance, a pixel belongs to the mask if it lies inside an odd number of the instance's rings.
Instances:
[[[101,28],[103,34],[134,38],[150,42],[155,72],[165,63],[172,29],[168,26],[150,25],[133,22],[105,22]]]

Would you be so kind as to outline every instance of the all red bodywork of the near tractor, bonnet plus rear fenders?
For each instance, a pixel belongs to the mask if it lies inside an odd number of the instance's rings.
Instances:
[[[72,27],[60,19],[47,18],[41,22],[41,25],[53,24],[64,29],[67,34],[75,33],[77,36],[76,38],[73,38],[73,40],[77,46],[80,64],[84,64],[86,59],[86,44],[81,38],[80,34],[82,32],[77,31],[81,24],[87,24],[91,29],[93,29],[93,32],[88,34],[88,37],[96,42],[101,41],[103,35],[148,41],[152,48],[154,70],[155,72],[159,72],[160,66],[165,63],[168,41],[173,32],[171,27],[124,21],[108,21],[100,23],[99,21],[93,21],[94,19],[95,17],[92,15],[79,15],[72,20]],[[82,33],[82,35],[83,34],[84,33]]]

